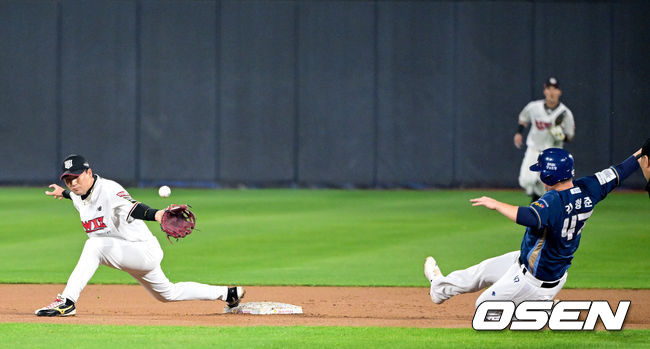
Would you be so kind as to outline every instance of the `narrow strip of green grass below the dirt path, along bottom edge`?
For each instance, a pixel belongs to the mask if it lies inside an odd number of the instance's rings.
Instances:
[[[379,327],[183,327],[1,324],[0,347],[29,348],[639,348],[650,331],[475,332]],[[4,344],[3,344],[4,343]]]

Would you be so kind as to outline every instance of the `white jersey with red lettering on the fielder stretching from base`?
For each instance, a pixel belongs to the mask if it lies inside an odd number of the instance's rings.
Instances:
[[[70,193],[70,198],[79,211],[81,225],[89,238],[114,237],[126,241],[154,239],[144,221],[130,216],[137,201],[110,179],[97,176],[85,200],[74,193]]]

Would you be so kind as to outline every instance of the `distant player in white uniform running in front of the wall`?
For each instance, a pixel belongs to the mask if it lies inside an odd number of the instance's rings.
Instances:
[[[539,180],[539,173],[529,168],[537,161],[537,156],[547,148],[562,148],[564,142],[571,141],[575,134],[573,113],[560,102],[562,90],[556,78],[544,82],[545,99],[532,101],[519,114],[519,128],[514,137],[517,148],[523,146],[523,131],[529,125],[530,132],[526,138],[526,154],[519,170],[519,185],[526,190],[526,195],[536,201],[544,195],[544,185]],[[532,202],[531,201],[531,202]]]

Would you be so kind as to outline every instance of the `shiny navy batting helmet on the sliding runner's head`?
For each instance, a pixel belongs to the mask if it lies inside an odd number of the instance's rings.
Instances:
[[[539,178],[546,185],[554,185],[573,178],[573,156],[561,148],[548,148],[539,154],[530,170],[540,172]]]

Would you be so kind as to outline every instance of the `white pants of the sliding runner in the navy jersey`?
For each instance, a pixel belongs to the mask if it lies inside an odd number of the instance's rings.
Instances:
[[[519,305],[526,300],[553,300],[567,278],[567,273],[564,273],[555,287],[543,288],[541,280],[530,272],[524,274],[522,271],[519,251],[509,252],[433,279],[429,295],[434,303],[442,303],[452,296],[479,291],[489,286],[476,300],[476,307],[487,300],[509,300]]]

